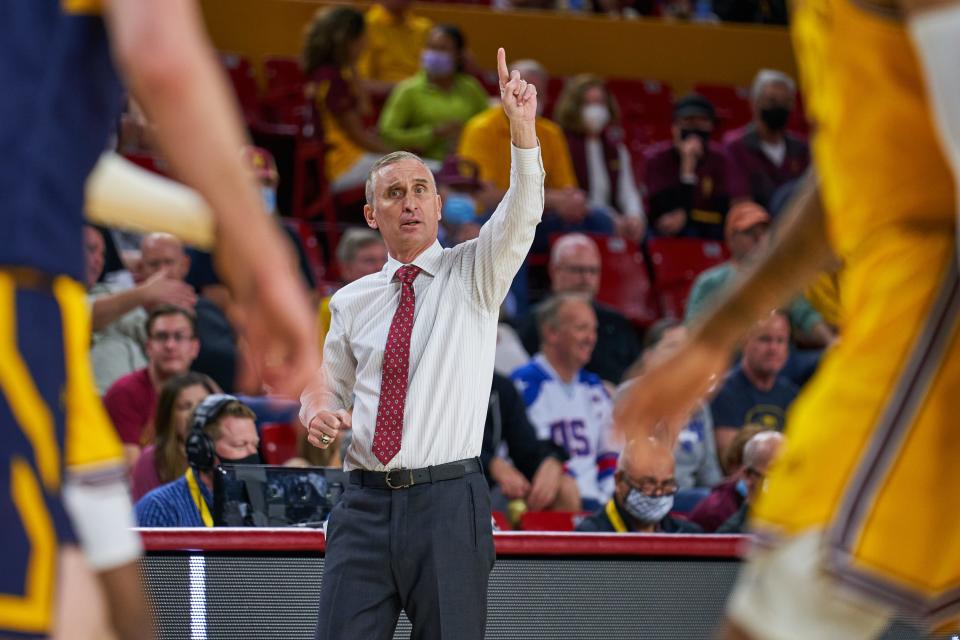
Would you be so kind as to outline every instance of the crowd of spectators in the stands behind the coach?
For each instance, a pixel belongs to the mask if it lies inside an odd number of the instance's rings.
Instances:
[[[365,13],[337,6],[317,14],[306,31],[299,87],[301,116],[315,128],[297,135],[321,143],[321,173],[311,186],[323,197],[360,189],[389,151],[420,154],[435,172],[443,200],[440,241],[451,247],[477,236],[509,186],[509,123],[476,75],[460,29],[433,25],[409,5],[383,0]],[[780,19],[775,6],[764,7],[717,2],[713,11],[721,18]],[[609,0],[570,0],[566,8],[684,11],[680,2]],[[571,77],[557,92],[540,62],[511,67],[542,97],[537,132],[546,207],[501,309],[481,456],[494,509],[509,512],[513,525],[526,510],[570,514],[561,526],[578,531],[741,532],[775,462],[788,408],[838,336],[835,276],[824,274],[810,295],[756,326],[677,442],[654,437],[626,449],[613,406],[645,366],[677,348],[686,327],[767,246],[787,194],[809,164],[805,138],[788,130],[795,84],[782,73],[760,72],[751,92],[753,119],[724,135],[709,99],[679,97],[664,121],[651,123],[669,137],[638,148],[628,135],[636,123],[624,115],[630,105],[603,78]],[[120,148],[149,152],[148,128],[132,106]],[[244,157],[297,249],[322,339],[330,295],[383,267],[383,241],[343,211],[335,212],[341,217],[333,233],[329,220],[282,215],[289,205],[281,204],[278,188],[295,178],[277,167],[296,159],[275,159],[259,147]],[[336,208],[343,201],[333,202]],[[684,247],[701,251],[707,263],[685,270],[685,311],[678,314],[658,303],[659,267],[651,255],[679,256]],[[242,319],[216,276],[214,257],[172,236],[94,227],[85,230],[85,248],[94,374],[125,445],[141,525],[204,524],[210,475],[192,471],[186,443],[193,410],[211,394],[246,394],[203,426],[217,459],[254,461],[263,424],[280,422],[296,432],[297,444],[268,456],[271,463],[341,464],[349,434],[320,451],[306,442],[295,406],[277,409],[264,399],[268,390],[246,363],[235,330]],[[318,261],[318,250],[329,259]],[[632,269],[611,275],[614,265],[604,264],[610,255],[629,256]],[[652,282],[653,293],[649,300],[618,300],[609,292],[619,290],[620,280]],[[628,304],[641,303],[649,303],[651,316],[628,315]]]

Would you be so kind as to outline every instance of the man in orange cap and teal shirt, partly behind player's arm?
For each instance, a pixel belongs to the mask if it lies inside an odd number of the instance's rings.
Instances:
[[[766,247],[770,238],[770,216],[763,207],[752,202],[734,205],[727,215],[724,236],[730,250],[730,260],[697,276],[687,299],[687,324],[703,313],[737,271],[746,267]],[[833,340],[833,330],[803,296],[793,300],[787,308],[787,315],[794,332],[805,344],[824,347]]]

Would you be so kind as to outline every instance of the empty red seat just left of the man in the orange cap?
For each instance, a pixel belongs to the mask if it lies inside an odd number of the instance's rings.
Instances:
[[[647,242],[653,271],[653,286],[665,316],[682,319],[693,281],[700,272],[728,257],[717,240],[697,238],[651,238]]]

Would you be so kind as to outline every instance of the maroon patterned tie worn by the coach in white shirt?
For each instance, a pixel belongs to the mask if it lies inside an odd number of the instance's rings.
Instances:
[[[393,314],[387,346],[383,350],[380,378],[380,404],[377,429],[373,434],[373,454],[387,464],[400,451],[403,438],[403,409],[407,403],[407,376],[410,372],[410,334],[413,332],[413,281],[420,267],[407,265],[397,269],[400,280],[400,305]]]

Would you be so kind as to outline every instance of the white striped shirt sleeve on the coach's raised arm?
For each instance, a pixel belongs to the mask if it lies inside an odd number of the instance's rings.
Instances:
[[[496,311],[503,302],[530,251],[534,231],[543,215],[546,174],[540,147],[519,149],[511,145],[510,148],[510,188],[493,216],[480,229],[473,252],[464,252],[461,269],[470,281],[472,296],[488,311]],[[472,265],[467,259],[471,253]]]

